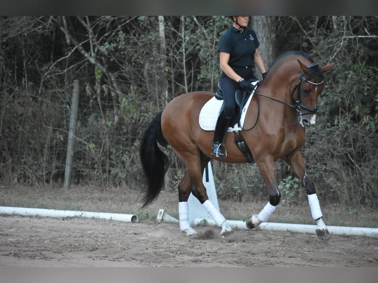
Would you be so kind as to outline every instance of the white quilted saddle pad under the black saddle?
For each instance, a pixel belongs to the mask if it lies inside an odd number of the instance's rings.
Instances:
[[[255,88],[256,89],[256,88]],[[240,118],[240,125],[243,128],[245,114],[247,113],[247,109],[251,99],[253,97],[255,91],[249,96],[247,103],[243,107],[241,118]],[[205,131],[214,131],[215,125],[217,124],[219,113],[221,112],[223,100],[217,100],[212,97],[206,104],[202,107],[201,112],[199,113],[199,126]],[[228,128],[228,132],[241,130],[241,128],[236,123],[232,127]]]

